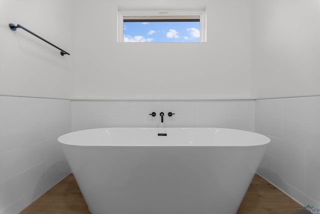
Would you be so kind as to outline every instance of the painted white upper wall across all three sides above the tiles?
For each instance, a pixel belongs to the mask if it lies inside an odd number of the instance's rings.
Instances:
[[[1,0],[0,4],[2,95],[214,99],[320,93],[317,0]],[[117,7],[206,7],[208,42],[116,43]],[[29,28],[71,56],[61,57],[58,50],[21,29],[11,31],[8,23]]]

